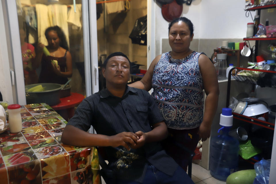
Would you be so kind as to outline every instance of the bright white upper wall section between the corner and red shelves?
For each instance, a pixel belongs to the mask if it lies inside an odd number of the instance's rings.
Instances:
[[[200,1],[200,0],[199,0]],[[247,23],[245,1],[204,0],[201,1],[200,38],[244,38]],[[252,11],[252,17],[257,11]]]

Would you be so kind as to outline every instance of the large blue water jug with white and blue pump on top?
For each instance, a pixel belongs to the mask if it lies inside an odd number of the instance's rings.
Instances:
[[[222,134],[211,139],[209,169],[214,178],[226,181],[231,173],[237,171],[239,161],[239,141],[228,135],[233,125],[231,109],[223,108],[220,124],[222,128],[218,132],[222,131]]]

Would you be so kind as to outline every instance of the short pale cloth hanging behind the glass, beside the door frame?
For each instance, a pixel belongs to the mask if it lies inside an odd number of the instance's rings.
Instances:
[[[82,18],[82,9],[81,4],[76,4],[76,12],[74,11],[74,5],[70,5],[70,9],[68,11],[67,22],[71,23],[81,30],[81,18]]]

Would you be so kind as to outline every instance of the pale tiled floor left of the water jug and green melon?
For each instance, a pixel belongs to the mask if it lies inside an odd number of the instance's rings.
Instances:
[[[194,163],[192,165],[192,180],[195,184],[226,184],[225,181],[214,179],[210,175],[209,170],[206,170],[200,165]],[[104,179],[101,179],[101,182],[102,184],[106,184]]]

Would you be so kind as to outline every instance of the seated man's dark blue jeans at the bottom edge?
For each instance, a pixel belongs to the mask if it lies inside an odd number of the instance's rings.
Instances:
[[[116,181],[118,184],[141,184],[136,181]],[[187,173],[180,167],[177,167],[173,176],[167,175],[161,171],[159,171],[153,165],[147,166],[147,171],[145,174],[145,178],[143,184],[165,184],[165,183],[172,183],[172,184],[194,184],[191,178],[187,175]]]

